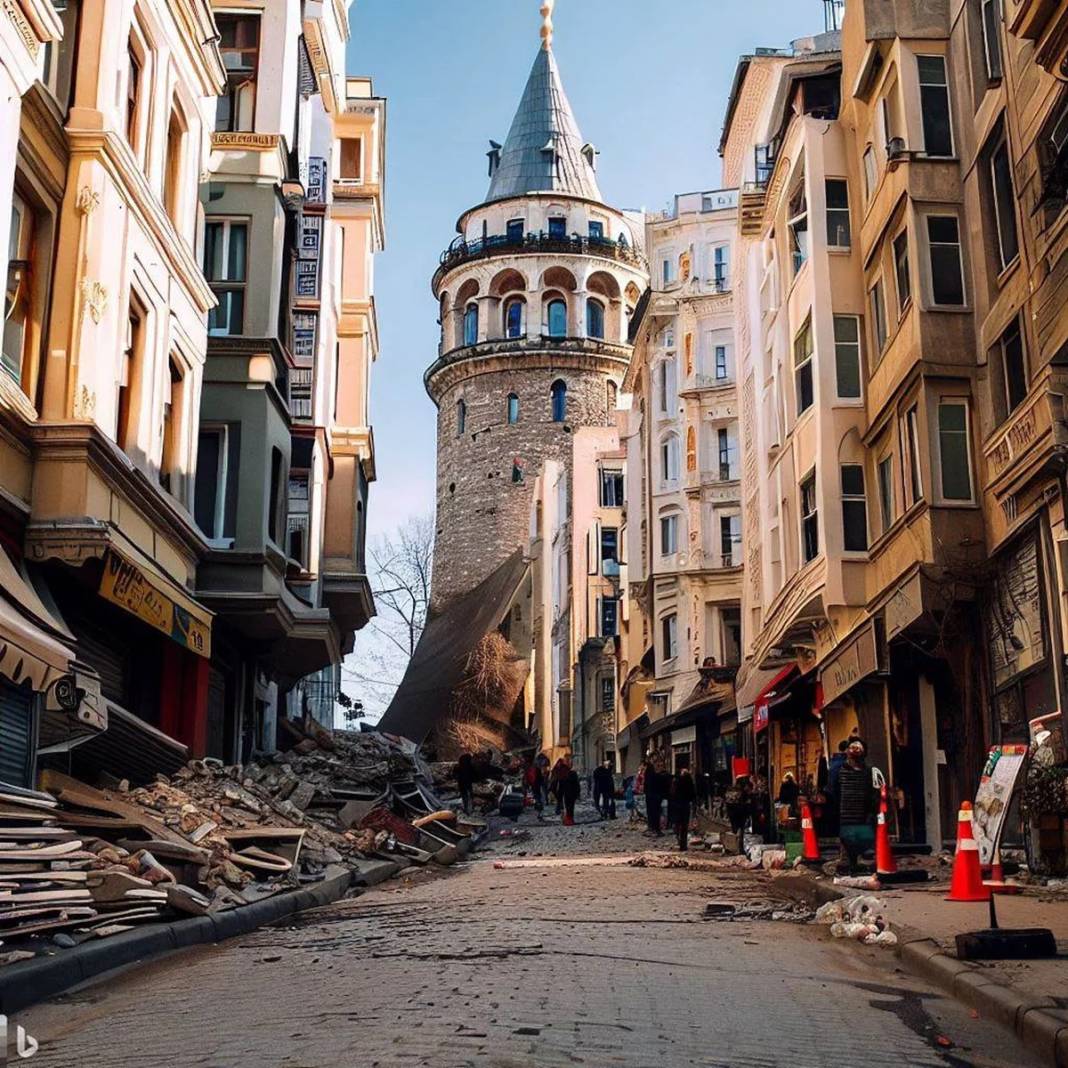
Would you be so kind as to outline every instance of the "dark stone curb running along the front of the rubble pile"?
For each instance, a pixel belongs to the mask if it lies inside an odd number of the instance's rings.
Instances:
[[[332,905],[345,895],[351,882],[348,868],[331,865],[326,878],[314,888],[274,894],[209,916],[139,927],[12,964],[0,970],[0,1012],[11,1016],[115,969],[144,963],[175,949],[222,942],[307,909]]]

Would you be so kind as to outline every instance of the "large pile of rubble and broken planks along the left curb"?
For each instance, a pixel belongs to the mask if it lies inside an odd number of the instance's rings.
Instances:
[[[191,760],[136,788],[52,770],[42,791],[0,784],[0,964],[44,938],[72,946],[239,908],[336,865],[452,863],[482,828],[445,808],[434,782],[404,739],[313,726],[285,753]]]

